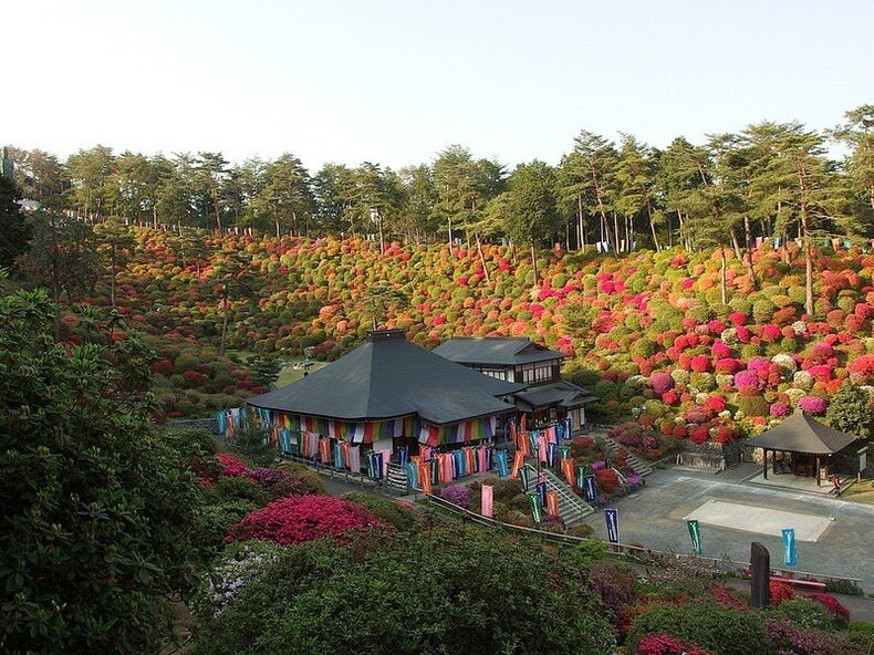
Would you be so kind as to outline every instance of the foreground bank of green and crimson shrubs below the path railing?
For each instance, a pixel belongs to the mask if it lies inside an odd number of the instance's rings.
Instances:
[[[759,611],[709,563],[664,558],[644,576],[596,540],[549,549],[403,501],[325,496],[298,465],[218,453],[195,468],[216,534],[190,601],[195,653],[862,655],[873,644],[872,625],[830,593],[772,582]]]

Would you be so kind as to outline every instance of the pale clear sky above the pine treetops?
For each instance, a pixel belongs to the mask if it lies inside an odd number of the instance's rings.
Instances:
[[[558,164],[874,103],[870,0],[7,0],[0,143]]]

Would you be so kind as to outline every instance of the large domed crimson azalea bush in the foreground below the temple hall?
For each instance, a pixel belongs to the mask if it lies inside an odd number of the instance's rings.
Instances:
[[[354,502],[333,496],[302,496],[281,498],[248,513],[228,531],[225,542],[260,539],[287,545],[381,527],[370,511]]]

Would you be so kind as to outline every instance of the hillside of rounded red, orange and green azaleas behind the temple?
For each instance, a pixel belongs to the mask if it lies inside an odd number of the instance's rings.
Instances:
[[[634,414],[665,436],[726,441],[801,407],[824,415],[842,387],[874,378],[874,254],[814,250],[814,313],[804,259],[790,241],[752,253],[755,280],[727,251],[541,254],[511,247],[386,245],[361,239],[204,236],[191,246],[132,228],[116,275],[117,311],[153,335],[157,388],[170,416],[227,406],[260,386],[217,356],[227,346],[333,360],[374,322],[434,347],[457,335],[528,336],[569,360],[564,374],[601,402],[595,416]],[[197,256],[194,256],[196,252]],[[485,262],[485,268],[483,268]],[[86,302],[107,304],[108,275]],[[214,350],[215,349],[215,350]]]

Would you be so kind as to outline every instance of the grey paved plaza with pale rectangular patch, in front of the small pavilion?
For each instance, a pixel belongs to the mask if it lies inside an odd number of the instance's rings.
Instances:
[[[719,474],[691,468],[656,470],[638,493],[611,505],[620,512],[620,539],[657,550],[690,552],[686,517],[717,501],[722,506],[710,512],[716,517],[711,522],[720,523],[720,513],[729,518],[718,526],[699,519],[704,554],[746,562],[750,542],[759,541],[771,552],[771,564],[781,566],[782,540],[778,527],[771,523],[780,523],[779,529],[799,530],[803,526],[813,531],[819,526],[822,530],[814,537],[816,541],[801,541],[799,536],[795,569],[857,578],[868,593],[874,591],[874,506],[752,484],[750,480],[760,472],[755,465]],[[728,512],[722,512],[726,509]],[[763,519],[769,510],[784,513]],[[782,524],[790,520],[797,524]],[[595,536],[606,539],[603,512],[587,517],[585,522],[595,529]]]

